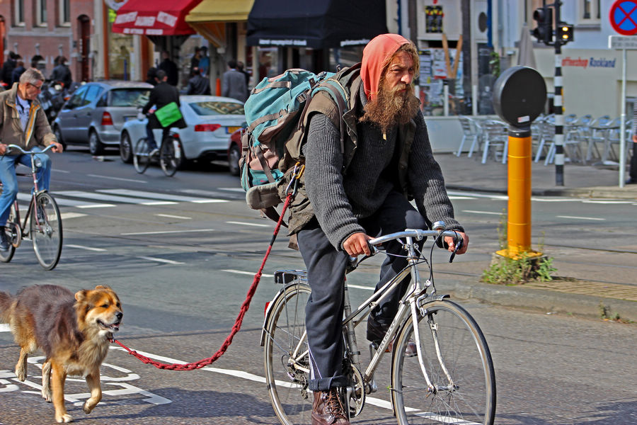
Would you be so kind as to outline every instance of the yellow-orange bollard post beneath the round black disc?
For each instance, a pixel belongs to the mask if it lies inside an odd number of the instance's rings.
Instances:
[[[530,129],[509,128],[507,249],[496,254],[510,259],[542,255],[531,249],[531,159]]]

